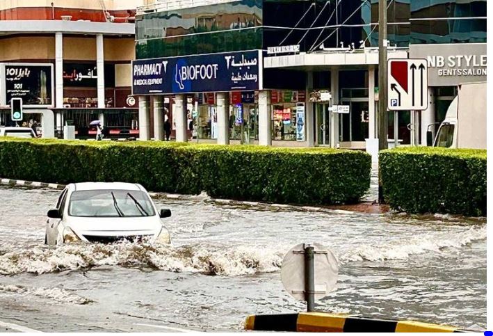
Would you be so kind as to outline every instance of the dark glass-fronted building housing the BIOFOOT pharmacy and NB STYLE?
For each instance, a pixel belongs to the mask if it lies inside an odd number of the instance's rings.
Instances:
[[[160,125],[161,102],[168,99],[181,141],[360,150],[375,143],[378,1],[193,4],[160,1],[138,9],[133,84],[149,125],[143,138],[156,138],[150,125]],[[426,130],[444,119],[455,87],[485,81],[486,1],[388,1],[388,20],[388,57],[427,58],[430,67],[430,107],[389,113],[389,143],[423,144]],[[255,53],[254,66],[227,67],[228,59],[253,61]],[[166,74],[154,81],[135,76],[137,64],[156,61],[167,63]],[[200,68],[197,77],[186,72],[196,65],[206,67],[202,79]],[[209,65],[218,72],[207,79]],[[252,86],[240,78],[249,74],[257,75]],[[191,85],[172,85],[177,78]],[[158,79],[160,88],[149,85]]]

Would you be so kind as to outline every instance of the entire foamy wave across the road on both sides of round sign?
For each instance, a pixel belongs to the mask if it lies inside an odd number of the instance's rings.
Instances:
[[[337,251],[340,264],[407,259],[411,255],[439,253],[444,248],[461,248],[486,238],[486,226],[460,232],[428,232],[407,239],[359,245]],[[323,241],[321,242],[323,243]],[[226,246],[197,243],[188,246],[151,246],[136,243],[73,244],[59,247],[22,248],[0,255],[0,274],[51,273],[94,266],[147,267],[172,272],[207,275],[249,275],[275,272],[291,246]],[[328,246],[329,247],[329,246]]]

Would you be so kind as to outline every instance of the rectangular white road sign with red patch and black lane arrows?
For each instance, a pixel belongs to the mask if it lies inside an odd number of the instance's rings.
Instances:
[[[389,111],[428,109],[428,62],[426,59],[389,59],[387,67]]]

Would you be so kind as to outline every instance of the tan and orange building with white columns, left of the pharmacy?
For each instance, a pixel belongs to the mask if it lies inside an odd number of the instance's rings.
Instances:
[[[136,1],[46,4],[0,4],[1,125],[15,125],[8,106],[21,97],[23,122],[53,118],[53,136],[74,125],[76,138],[95,138],[89,124],[98,119],[106,138],[138,136],[131,97]]]

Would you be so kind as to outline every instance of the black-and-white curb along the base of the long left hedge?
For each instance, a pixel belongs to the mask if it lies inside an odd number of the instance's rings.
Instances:
[[[24,181],[22,179],[0,179],[0,184],[9,186],[29,186],[31,188],[47,188],[61,190],[65,188],[65,184],[45,183],[45,182],[32,182]],[[197,200],[197,195],[181,195],[176,193],[154,193],[149,192],[152,198],[168,198],[170,200]],[[264,202],[252,202],[241,200],[223,200],[221,198],[208,198],[207,202],[214,202],[224,205],[241,205],[246,207],[264,207],[267,209],[275,210],[293,210],[293,211],[313,211],[313,212],[325,212],[328,214],[355,214],[355,211],[341,210],[341,209],[328,209],[324,207],[309,207],[300,205],[285,205],[276,203],[264,203]]]

